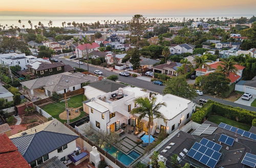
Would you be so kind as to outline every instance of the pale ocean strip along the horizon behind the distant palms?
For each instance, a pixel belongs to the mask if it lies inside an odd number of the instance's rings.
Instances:
[[[145,15],[145,17],[147,18],[161,18],[161,19],[166,19],[165,21],[180,21],[182,22],[183,21],[183,18],[185,17],[185,19],[193,19],[196,20],[197,18],[217,18],[219,17],[220,20],[224,20],[224,17],[227,17],[227,18],[239,18],[239,17],[252,17],[252,15],[229,15],[229,16],[181,16],[181,15]],[[223,17],[223,18],[222,18]],[[114,20],[116,21],[128,21],[128,20],[131,20],[132,19],[132,15],[131,16],[114,16],[114,15],[110,15],[110,16],[105,16],[105,15],[98,15],[98,16],[1,16],[0,15],[0,24],[1,25],[13,25],[13,26],[19,26],[20,27],[20,24],[18,23],[18,20],[21,20],[22,21],[22,25],[25,25],[26,28],[30,28],[30,25],[28,23],[28,21],[30,20],[34,25],[38,25],[38,22],[40,21],[42,24],[44,24],[44,26],[48,26],[48,23],[49,21],[51,20],[52,23],[53,23],[53,26],[62,26],[62,22],[79,22],[79,23],[82,23],[82,22],[85,22],[85,23],[94,23],[94,22],[97,22],[99,21],[100,23],[103,23],[104,20],[107,21],[107,20],[112,20],[112,23]],[[206,20],[205,20],[206,21]],[[162,22],[162,20],[159,20],[159,22]],[[66,24],[67,26],[67,24]]]

